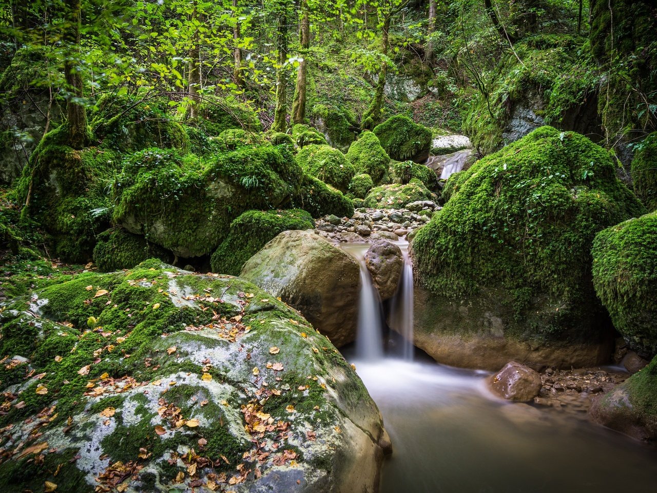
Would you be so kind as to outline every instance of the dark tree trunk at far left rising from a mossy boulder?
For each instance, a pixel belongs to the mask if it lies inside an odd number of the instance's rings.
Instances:
[[[74,149],[82,149],[91,143],[89,129],[87,128],[87,111],[79,104],[83,97],[84,84],[82,76],[76,70],[76,59],[79,57],[81,7],[80,0],[66,0],[66,28],[64,39],[68,43],[69,53],[64,62],[64,75],[66,84],[71,91],[66,101],[66,115],[68,116],[68,143]]]

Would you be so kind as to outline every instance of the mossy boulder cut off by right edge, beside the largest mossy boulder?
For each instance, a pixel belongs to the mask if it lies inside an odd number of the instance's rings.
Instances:
[[[629,346],[657,354],[657,212],[600,231],[593,242],[593,285]]]

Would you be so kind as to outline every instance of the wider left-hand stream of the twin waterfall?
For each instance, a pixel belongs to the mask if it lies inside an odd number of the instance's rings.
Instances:
[[[372,277],[365,265],[367,243],[350,243],[342,248],[351,254],[361,268],[361,290],[358,300],[358,329],[356,333],[356,354],[359,360],[377,361],[383,358],[383,316],[381,300],[372,283]]]

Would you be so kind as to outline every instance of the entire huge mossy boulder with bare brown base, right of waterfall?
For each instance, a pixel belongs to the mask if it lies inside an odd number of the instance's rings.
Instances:
[[[591,282],[591,245],[644,210],[610,154],[543,127],[452,179],[451,198],[413,241],[419,347],[490,369],[608,361],[612,330]]]

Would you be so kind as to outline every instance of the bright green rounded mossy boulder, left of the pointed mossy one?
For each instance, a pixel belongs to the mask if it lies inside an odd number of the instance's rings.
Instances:
[[[338,149],[329,145],[307,145],[296,155],[299,166],[309,175],[346,192],[356,168]]]

